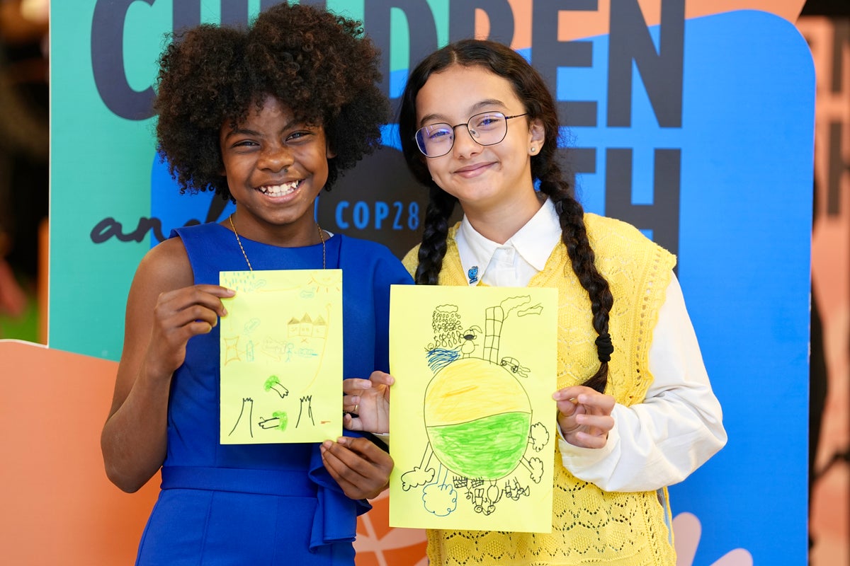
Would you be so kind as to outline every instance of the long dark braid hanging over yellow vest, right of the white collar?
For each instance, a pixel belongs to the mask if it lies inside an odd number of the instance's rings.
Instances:
[[[614,305],[608,281],[598,272],[594,263],[596,255],[587,239],[584,225],[584,210],[572,195],[572,191],[562,180],[557,165],[550,165],[547,180],[541,180],[541,192],[553,200],[558,219],[561,223],[561,239],[567,247],[570,264],[578,277],[581,287],[587,290],[590,297],[593,328],[598,333],[596,348],[599,356],[599,369],[584,385],[605,392],[608,384],[608,362],[614,352],[611,336],[608,333],[609,313]]]

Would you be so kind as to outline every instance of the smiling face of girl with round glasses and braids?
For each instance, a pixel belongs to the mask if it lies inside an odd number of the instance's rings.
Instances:
[[[511,116],[524,114],[525,108],[510,82],[478,65],[454,64],[434,73],[416,94],[417,127],[466,124],[470,116],[487,111]],[[508,120],[505,139],[495,145],[479,145],[466,126],[458,126],[448,154],[422,159],[434,182],[460,201],[473,225],[474,218],[498,211],[527,221],[540,208],[530,156],[532,148],[540,150],[542,137],[539,122],[530,123],[526,116]]]

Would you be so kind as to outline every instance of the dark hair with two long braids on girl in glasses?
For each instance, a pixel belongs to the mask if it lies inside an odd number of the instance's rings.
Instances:
[[[428,172],[426,158],[416,147],[416,95],[425,86],[428,77],[451,65],[479,65],[511,83],[513,92],[523,103],[528,120],[541,120],[546,131],[545,143],[540,152],[531,156],[531,177],[540,183],[541,193],[552,199],[561,224],[561,239],[570,256],[570,265],[581,286],[591,300],[593,328],[599,334],[599,369],[584,383],[604,392],[608,383],[610,359],[609,312],[614,297],[608,281],[594,264],[595,255],[587,239],[584,210],[575,199],[573,187],[567,182],[558,165],[558,110],[552,93],[540,73],[519,53],[501,43],[466,39],[451,43],[423,59],[407,80],[399,108],[399,137],[407,166],[416,180],[428,187],[428,209],[422,227],[422,245],[419,247],[419,265],[416,283],[437,284],[446,252],[449,218],[457,199],[433,182]]]

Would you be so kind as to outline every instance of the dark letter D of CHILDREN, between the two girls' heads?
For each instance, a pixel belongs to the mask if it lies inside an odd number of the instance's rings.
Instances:
[[[383,53],[381,92],[394,104],[395,115],[399,97],[393,97],[389,92],[390,13],[394,9],[401,10],[407,19],[410,37],[408,69],[413,69],[428,53],[437,49],[437,25],[426,0],[364,0],[363,26]]]

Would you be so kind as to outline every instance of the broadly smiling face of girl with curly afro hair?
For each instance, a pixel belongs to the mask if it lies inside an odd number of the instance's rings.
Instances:
[[[286,105],[267,97],[235,127],[225,122],[219,139],[240,235],[283,246],[318,244],[314,201],[333,157],[324,129],[295,121]]]

